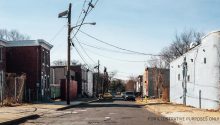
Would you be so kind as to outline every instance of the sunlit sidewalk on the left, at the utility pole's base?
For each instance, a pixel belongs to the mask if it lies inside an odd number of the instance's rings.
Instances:
[[[65,110],[82,103],[90,103],[97,99],[82,99],[66,104],[66,101],[55,101],[53,103],[41,104],[22,104],[15,107],[0,107],[0,125],[13,124],[27,119],[38,118],[45,113],[55,112],[58,110]]]

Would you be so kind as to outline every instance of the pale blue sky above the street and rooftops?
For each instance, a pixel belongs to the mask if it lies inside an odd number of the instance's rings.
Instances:
[[[73,4],[74,25],[84,0],[0,0],[0,28],[17,29],[31,39],[45,39],[54,45],[51,62],[66,59],[67,29],[64,25],[67,20],[58,19],[57,15],[66,10],[70,2]],[[85,21],[95,21],[97,25],[84,25],[82,30],[122,48],[158,54],[172,42],[176,33],[188,29],[204,33],[219,30],[219,5],[219,0],[99,0]],[[59,35],[54,38],[60,29]],[[77,38],[87,44],[109,48],[80,33]],[[99,59],[109,71],[117,70],[120,78],[142,74],[146,63],[122,62],[112,58],[131,61],[147,61],[150,58],[84,48],[94,61]],[[83,53],[83,50],[80,51]],[[88,64],[95,65],[85,54],[83,56]],[[71,57],[83,62],[74,48]]]

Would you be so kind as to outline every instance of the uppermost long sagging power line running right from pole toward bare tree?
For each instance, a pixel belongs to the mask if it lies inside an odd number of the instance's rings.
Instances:
[[[86,35],[86,36],[88,36],[88,37],[90,37],[90,38],[92,38],[92,39],[95,39],[95,40],[98,41],[98,42],[101,42],[101,43],[103,43],[103,44],[106,44],[106,45],[108,45],[108,46],[111,46],[111,47],[114,47],[114,48],[117,48],[117,49],[120,49],[120,50],[123,50],[123,51],[132,52],[132,53],[136,53],[136,54],[140,54],[140,55],[161,56],[161,55],[147,54],[147,53],[142,53],[142,52],[137,52],[137,51],[133,51],[133,50],[124,49],[124,48],[115,46],[115,45],[113,45],[113,44],[107,43],[107,42],[105,42],[105,41],[103,41],[103,40],[100,40],[100,39],[98,39],[98,38],[96,38],[96,37],[94,37],[94,36],[92,36],[92,35],[89,35],[88,33],[83,32],[82,30],[78,30],[78,31],[80,31],[81,33],[83,33],[84,35]]]

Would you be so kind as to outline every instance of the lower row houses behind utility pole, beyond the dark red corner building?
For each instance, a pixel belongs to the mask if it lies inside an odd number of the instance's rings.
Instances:
[[[66,66],[51,66],[50,68],[50,83],[51,83],[51,97],[52,98],[62,98],[65,99],[65,97],[61,95],[66,95],[65,87],[62,89],[62,86],[65,85],[65,79],[66,79]],[[87,69],[83,65],[74,65],[70,66],[70,77],[71,81],[75,81],[75,85],[72,85],[71,87],[76,88],[75,90],[70,91],[70,93],[75,92],[75,95],[72,95],[72,99],[77,97],[92,97],[94,92],[96,91],[94,87],[94,80],[93,76],[95,74]],[[64,82],[62,82],[62,80]]]

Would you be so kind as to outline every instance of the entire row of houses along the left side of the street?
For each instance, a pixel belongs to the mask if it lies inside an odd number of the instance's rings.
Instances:
[[[52,45],[45,40],[0,40],[0,101],[6,98],[6,75],[25,74],[22,90],[24,101],[49,101],[51,98],[66,99],[66,66],[50,65]],[[83,65],[71,69],[71,99],[92,97],[103,91],[103,74],[97,75]],[[16,83],[15,83],[16,84]],[[16,90],[16,86],[14,89]],[[14,90],[12,90],[14,92]],[[16,95],[16,94],[15,94]]]

